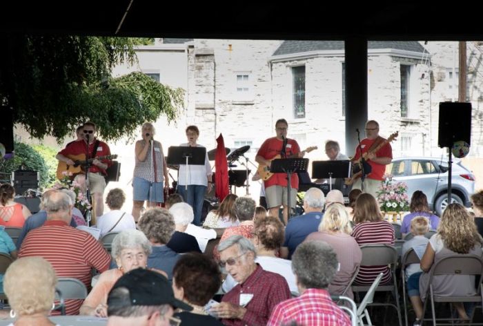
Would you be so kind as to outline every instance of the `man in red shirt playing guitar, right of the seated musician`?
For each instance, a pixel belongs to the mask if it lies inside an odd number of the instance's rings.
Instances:
[[[384,172],[386,171],[386,165],[391,164],[393,160],[393,149],[391,144],[386,143],[382,147],[374,151],[377,146],[383,144],[386,140],[379,135],[379,124],[375,120],[369,120],[366,122],[366,138],[361,141],[362,155],[367,153],[366,161],[371,165],[372,171],[366,175],[364,184],[362,184],[361,178],[355,180],[352,189],[362,189],[364,186],[365,193],[371,193],[374,198],[377,198],[377,191],[381,186]],[[359,146],[355,148],[355,154],[353,161],[359,160],[361,157],[361,150]]]

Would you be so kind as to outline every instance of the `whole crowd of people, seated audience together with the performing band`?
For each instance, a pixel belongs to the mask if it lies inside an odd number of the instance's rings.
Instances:
[[[105,184],[97,177],[110,163],[95,157],[110,151],[106,143],[97,142],[96,130],[95,124],[85,124],[80,139],[57,158],[72,164],[69,155],[90,151],[89,186],[102,198]],[[297,142],[286,137],[287,130],[286,120],[279,119],[276,137],[257,153],[259,164],[269,165],[276,155],[303,156]],[[85,300],[65,301],[66,314],[108,318],[108,325],[351,325],[351,316],[331,295],[354,298],[351,285],[371,285],[380,273],[380,284],[393,281],[390,267],[361,265],[361,246],[395,244],[393,225],[384,220],[374,195],[380,171],[392,157],[377,122],[367,122],[364,146],[355,151],[355,160],[364,157],[372,172],[355,180],[349,204],[337,189],[324,195],[313,187],[304,194],[304,213],[291,218],[286,175],[275,173],[264,182],[268,211],[251,198],[230,194],[203,220],[199,201],[212,186],[208,157],[204,165],[180,166],[179,193],[164,198],[167,164],[153,135],[154,127],[146,123],[136,143],[132,212],[122,209],[122,189],[107,194],[108,213],[99,209],[103,205],[96,207],[101,236],[117,232],[110,253],[90,233],[77,229],[86,221],[74,211],[67,191],[43,193],[41,210],[32,215],[13,201],[12,186],[0,186],[0,251],[15,259],[0,276],[12,325],[28,320],[54,325],[49,316],[59,314],[53,309],[54,294],[62,277],[77,278],[88,289]],[[188,126],[188,142],[182,146],[201,146],[198,136],[198,128]],[[337,142],[327,142],[331,160],[347,159],[339,151]],[[76,178],[86,184],[85,175]],[[143,210],[145,202],[148,209]],[[483,191],[473,194],[471,202],[474,217],[462,205],[449,204],[439,218],[422,191],[412,194],[401,232],[411,238],[404,242],[403,255],[411,250],[423,253],[420,264],[408,266],[405,273],[414,325],[423,317],[435,263],[454,254],[482,256]],[[22,228],[16,243],[5,227]],[[430,230],[435,234],[428,239]],[[210,247],[210,241],[219,243]],[[437,294],[475,293],[470,276],[437,276],[431,285]],[[469,319],[464,305],[455,307],[461,319]]]

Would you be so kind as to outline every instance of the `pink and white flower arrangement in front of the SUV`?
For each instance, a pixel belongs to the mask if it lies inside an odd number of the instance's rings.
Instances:
[[[384,180],[381,182],[380,191],[377,192],[377,201],[380,204],[381,211],[408,211],[409,198],[406,192],[408,186],[404,182],[393,182],[392,175],[384,175]]]

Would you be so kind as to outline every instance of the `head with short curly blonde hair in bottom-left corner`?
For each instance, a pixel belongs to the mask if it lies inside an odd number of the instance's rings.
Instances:
[[[50,262],[41,257],[20,258],[5,274],[5,293],[14,325],[55,325],[48,315],[53,308],[57,276]]]

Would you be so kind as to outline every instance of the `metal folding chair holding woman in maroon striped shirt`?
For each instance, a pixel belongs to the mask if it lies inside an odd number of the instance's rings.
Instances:
[[[401,307],[399,303],[399,294],[397,292],[396,280],[396,265],[397,265],[397,250],[391,245],[377,244],[377,245],[363,245],[361,246],[362,261],[361,266],[383,266],[388,265],[391,268],[392,282],[387,285],[379,285],[375,291],[390,291],[393,294],[395,304],[393,303],[371,303],[373,306],[390,306],[396,309],[399,325],[402,326]],[[372,285],[371,285],[372,286]],[[367,285],[353,285],[353,292],[363,292],[370,289]]]

